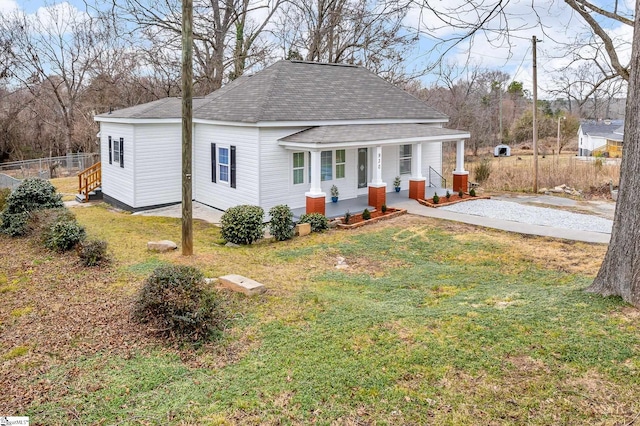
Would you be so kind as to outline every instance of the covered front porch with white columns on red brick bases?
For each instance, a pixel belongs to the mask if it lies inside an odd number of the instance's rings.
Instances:
[[[449,141],[456,142],[456,169],[450,181],[453,183],[452,189],[456,192],[460,189],[466,191],[469,172],[464,170],[464,141],[469,137],[467,132],[434,125],[394,123],[317,126],[279,139],[279,145],[287,150],[308,152],[309,186],[304,194],[306,205],[294,210],[294,214],[321,213],[327,217],[339,217],[347,210],[357,213],[365,208],[380,209],[383,204],[393,206],[393,200],[424,199],[438,190],[444,193],[446,189],[441,179],[434,181],[431,177],[434,173],[440,176],[442,142]],[[430,149],[426,157],[423,156],[425,147]],[[430,159],[429,152],[436,148],[439,152],[438,163],[426,164],[424,159]],[[344,152],[345,149],[357,151],[358,157],[363,150],[365,156],[368,155],[366,163],[358,159],[357,169],[354,163],[351,171],[358,175],[358,191],[341,197],[337,203],[327,202],[330,200],[327,197],[327,184],[330,182],[325,179],[324,154],[331,156],[332,150]],[[394,177],[400,175],[403,176],[403,191],[393,192]]]

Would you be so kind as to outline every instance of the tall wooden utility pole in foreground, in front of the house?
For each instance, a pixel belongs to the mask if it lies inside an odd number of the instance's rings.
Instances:
[[[193,132],[193,2],[182,0],[182,255],[193,254],[191,157]]]

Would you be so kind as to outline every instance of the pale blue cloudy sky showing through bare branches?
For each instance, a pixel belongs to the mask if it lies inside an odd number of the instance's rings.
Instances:
[[[426,1],[426,0],[425,0]],[[611,0],[594,0],[603,7],[611,7]],[[85,10],[84,3],[79,0],[68,2]],[[53,5],[55,0],[0,0],[0,13],[21,9],[26,13],[37,13],[40,8]],[[477,10],[465,10],[468,0],[430,1],[436,7],[452,7],[462,19],[471,19]],[[496,2],[486,1],[489,6]],[[632,11],[635,7],[633,0],[623,0],[621,7]],[[532,71],[532,36],[539,40],[537,44],[538,57],[538,91],[541,97],[547,89],[554,86],[558,70],[571,62],[572,54],[567,54],[562,46],[575,37],[589,34],[586,24],[574,15],[562,0],[510,0],[505,13],[509,16],[509,38],[499,37],[496,33],[478,33],[470,42],[466,40],[453,46],[451,43],[440,44],[440,48],[450,47],[446,53],[444,64],[461,66],[469,64],[471,67],[499,69],[511,75],[511,79],[524,83],[524,88],[533,88]],[[630,12],[629,12],[630,13]],[[542,24],[540,24],[542,23]],[[413,8],[405,18],[405,24],[420,29],[419,43],[411,57],[406,59],[408,70],[424,69],[434,62],[436,55],[430,56],[431,49],[437,45],[438,39],[448,39],[456,35],[456,31],[448,25],[442,25],[433,13],[424,9]],[[495,20],[490,24],[494,29],[503,27],[504,22]],[[618,40],[620,46],[624,42],[630,43],[633,29],[623,24],[605,24],[607,32]],[[623,62],[628,60],[630,49],[620,49]],[[573,54],[578,53],[576,50]],[[422,83],[428,86],[436,80],[437,70],[422,78]],[[464,78],[464,70],[461,71]]]

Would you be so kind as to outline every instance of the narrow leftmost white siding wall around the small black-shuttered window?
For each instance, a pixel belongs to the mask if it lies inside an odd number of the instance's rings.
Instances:
[[[124,138],[124,168],[115,161],[109,164],[109,136],[114,144],[119,143],[120,138]],[[102,192],[132,207],[135,207],[134,137],[135,129],[131,124],[100,123]]]

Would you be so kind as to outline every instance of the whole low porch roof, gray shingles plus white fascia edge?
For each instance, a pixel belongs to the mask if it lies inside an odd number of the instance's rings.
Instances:
[[[353,124],[317,126],[279,139],[286,148],[335,148],[345,146],[394,145],[468,139],[463,130],[443,129],[416,123]]]

